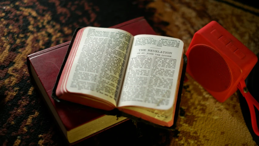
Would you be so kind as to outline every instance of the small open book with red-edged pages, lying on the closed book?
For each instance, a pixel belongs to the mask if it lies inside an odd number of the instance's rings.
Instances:
[[[74,36],[56,96],[170,127],[182,56],[183,42],[176,38],[85,27]]]

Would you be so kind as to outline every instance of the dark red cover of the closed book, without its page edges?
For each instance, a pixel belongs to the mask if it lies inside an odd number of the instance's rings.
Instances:
[[[154,30],[149,26],[149,24],[143,17],[118,24],[111,28],[118,28],[128,31],[134,36],[138,34],[155,35]],[[51,107],[50,109],[52,111],[55,111],[53,112],[54,116],[56,118],[60,118],[60,121],[67,131],[72,130],[73,128],[76,128],[82,124],[88,123],[94,119],[100,118],[101,116],[104,116],[103,113],[98,113],[95,110],[84,108],[83,106],[77,106],[77,104],[55,102],[54,99],[51,97],[52,90],[56,83],[56,78],[59,74],[64,57],[66,56],[69,43],[70,42],[63,43],[55,47],[36,52],[27,57],[28,69],[30,71],[31,77],[31,68],[33,68],[44,90],[46,91],[47,96],[53,104],[52,108],[54,109],[51,109]]]

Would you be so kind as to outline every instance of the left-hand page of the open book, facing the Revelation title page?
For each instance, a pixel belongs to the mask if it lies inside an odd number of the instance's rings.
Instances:
[[[133,36],[119,29],[84,28],[66,89],[105,99],[116,106]]]

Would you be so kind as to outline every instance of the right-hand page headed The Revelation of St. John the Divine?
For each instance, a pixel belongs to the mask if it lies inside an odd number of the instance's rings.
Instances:
[[[167,110],[173,106],[183,54],[176,38],[134,37],[118,106]]]

